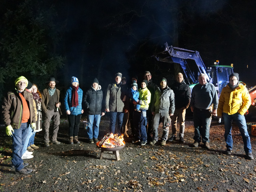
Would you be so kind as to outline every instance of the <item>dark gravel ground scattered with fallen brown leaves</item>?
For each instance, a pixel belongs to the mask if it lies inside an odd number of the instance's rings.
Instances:
[[[242,138],[235,124],[232,155],[223,154],[223,124],[212,121],[211,149],[206,150],[202,146],[190,147],[193,122],[186,120],[185,143],[140,146],[127,138],[125,147],[119,151],[119,161],[112,152],[104,152],[100,160],[100,149],[95,143],[88,143],[82,127],[81,144],[69,145],[67,125],[67,120],[62,119],[58,133],[60,145],[50,144],[45,148],[43,132],[36,134],[35,144],[40,148],[34,150],[34,158],[27,160],[28,167],[34,169],[29,175],[14,174],[10,166],[11,138],[1,125],[0,191],[256,191],[255,160],[244,158]],[[106,134],[108,126],[108,117],[104,116],[99,138]],[[253,150],[255,141],[256,137],[252,136]]]

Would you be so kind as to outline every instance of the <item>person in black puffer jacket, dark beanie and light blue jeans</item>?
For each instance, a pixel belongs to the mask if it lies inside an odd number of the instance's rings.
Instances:
[[[89,143],[98,142],[99,124],[101,116],[105,115],[102,109],[103,91],[97,78],[93,80],[91,88],[85,93],[83,107],[88,111],[87,134]]]

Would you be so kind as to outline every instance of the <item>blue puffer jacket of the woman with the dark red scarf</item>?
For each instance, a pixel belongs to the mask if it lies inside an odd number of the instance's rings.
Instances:
[[[78,106],[72,107],[72,102],[71,102],[72,87],[69,87],[66,92],[64,105],[65,105],[66,111],[67,110],[70,111],[70,115],[79,115],[82,113],[83,90],[78,88],[77,93],[78,93]]]

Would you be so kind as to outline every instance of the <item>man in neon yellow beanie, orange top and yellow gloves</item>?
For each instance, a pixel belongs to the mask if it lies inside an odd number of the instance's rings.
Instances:
[[[15,80],[15,90],[7,93],[2,104],[6,134],[11,136],[13,141],[12,165],[16,174],[28,174],[33,171],[25,168],[28,163],[24,163],[21,158],[29,127],[32,129],[36,127],[33,95],[24,91],[27,85],[28,80],[24,76],[18,77]]]

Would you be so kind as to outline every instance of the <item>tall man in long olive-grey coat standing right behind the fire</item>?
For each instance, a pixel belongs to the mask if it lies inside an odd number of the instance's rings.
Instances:
[[[110,112],[110,125],[109,131],[113,134],[118,134],[118,136],[122,133],[122,124],[123,124],[123,116],[124,112],[128,110],[125,109],[125,101],[126,95],[125,91],[122,90],[122,73],[116,73],[115,75],[115,83],[111,83],[108,85],[106,89],[106,103],[105,103],[105,111]],[[115,129],[117,119],[117,129]]]

